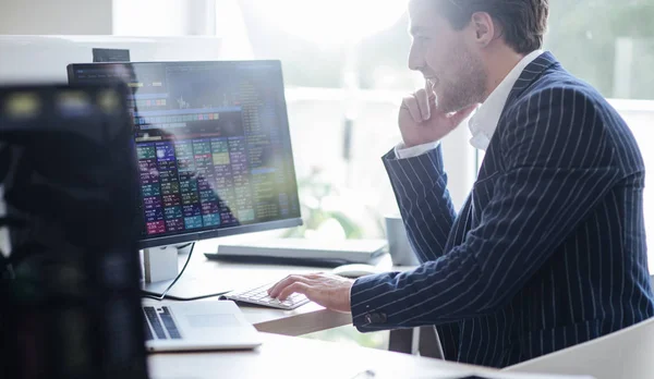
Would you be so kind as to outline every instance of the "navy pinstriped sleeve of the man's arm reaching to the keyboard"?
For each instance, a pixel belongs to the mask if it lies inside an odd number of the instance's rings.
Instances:
[[[496,311],[619,180],[603,120],[574,89],[521,100],[498,133],[505,169],[482,224],[462,245],[414,271],[356,280],[351,309],[361,331]]]

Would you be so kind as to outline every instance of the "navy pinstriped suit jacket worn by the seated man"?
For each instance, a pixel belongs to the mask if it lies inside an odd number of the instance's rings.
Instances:
[[[654,316],[638,145],[552,53],[516,83],[459,213],[440,148],[384,163],[422,266],[355,281],[360,331],[436,325],[448,360],[506,367]]]

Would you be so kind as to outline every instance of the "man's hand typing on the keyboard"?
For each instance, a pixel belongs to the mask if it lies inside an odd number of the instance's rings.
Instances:
[[[349,313],[351,279],[322,273],[289,276],[268,290],[268,295],[283,302],[293,293],[304,294],[325,308]]]

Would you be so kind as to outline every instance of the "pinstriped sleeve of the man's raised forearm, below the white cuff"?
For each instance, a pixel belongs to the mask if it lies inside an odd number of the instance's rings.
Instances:
[[[384,166],[411,246],[422,262],[437,259],[445,253],[457,216],[447,191],[440,145],[405,159],[397,159],[391,150],[384,157]]]

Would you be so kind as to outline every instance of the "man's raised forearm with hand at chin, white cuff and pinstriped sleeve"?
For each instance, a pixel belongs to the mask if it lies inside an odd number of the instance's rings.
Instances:
[[[384,166],[400,206],[407,235],[421,261],[445,253],[456,212],[447,192],[439,140],[476,108],[445,113],[432,90],[422,88],[402,100],[398,124],[401,148],[384,157]],[[429,147],[432,147],[429,149]]]

